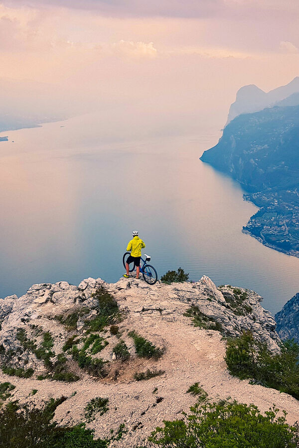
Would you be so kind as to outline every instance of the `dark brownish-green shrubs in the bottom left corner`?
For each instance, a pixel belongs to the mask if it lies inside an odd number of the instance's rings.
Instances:
[[[109,440],[94,440],[83,423],[58,427],[54,412],[65,397],[51,399],[42,408],[32,403],[8,403],[0,409],[1,448],[107,448]]]

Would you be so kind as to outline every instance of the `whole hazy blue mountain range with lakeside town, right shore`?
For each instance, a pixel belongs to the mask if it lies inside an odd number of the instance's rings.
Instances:
[[[238,180],[260,210],[243,227],[263,244],[299,257],[299,77],[268,94],[239,90],[218,144],[201,157]],[[252,95],[250,96],[250,92]],[[285,96],[285,98],[283,98]],[[273,107],[263,107],[266,103]],[[260,108],[258,112],[245,113]],[[242,111],[232,119],[234,113]]]

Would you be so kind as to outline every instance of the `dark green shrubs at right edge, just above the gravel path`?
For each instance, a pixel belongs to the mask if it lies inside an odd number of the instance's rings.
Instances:
[[[225,360],[232,375],[252,378],[299,400],[299,345],[293,340],[284,342],[281,352],[273,354],[266,344],[244,332],[227,341]]]

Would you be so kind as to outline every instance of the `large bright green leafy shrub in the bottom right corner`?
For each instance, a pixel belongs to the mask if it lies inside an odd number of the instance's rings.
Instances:
[[[149,437],[152,447],[164,448],[296,448],[298,429],[277,417],[271,408],[259,409],[239,403],[213,403],[191,408],[186,422],[164,421]]]

